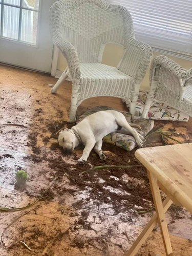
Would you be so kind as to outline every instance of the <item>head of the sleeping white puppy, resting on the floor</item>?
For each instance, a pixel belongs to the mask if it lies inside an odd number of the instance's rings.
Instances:
[[[75,135],[68,128],[60,129],[55,135],[58,135],[59,146],[62,146],[66,153],[71,153],[75,148]]]

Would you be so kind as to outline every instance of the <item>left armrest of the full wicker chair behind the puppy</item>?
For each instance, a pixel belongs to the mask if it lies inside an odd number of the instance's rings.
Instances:
[[[53,42],[60,49],[63,56],[66,58],[71,78],[79,78],[81,72],[79,67],[79,58],[75,47],[71,44],[71,42],[63,40],[58,36],[53,38]]]

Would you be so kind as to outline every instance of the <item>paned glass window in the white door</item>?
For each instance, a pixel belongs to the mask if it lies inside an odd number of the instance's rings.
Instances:
[[[0,0],[0,37],[37,44],[40,0]]]

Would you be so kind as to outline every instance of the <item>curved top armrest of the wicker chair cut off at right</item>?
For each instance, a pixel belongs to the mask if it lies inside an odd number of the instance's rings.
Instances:
[[[192,78],[192,69],[190,70],[184,69],[178,63],[176,63],[172,59],[169,59],[163,55],[157,56],[153,59],[152,65],[151,65],[150,77],[152,77],[153,71],[157,66],[160,66],[169,70],[170,72],[172,72],[173,74],[175,74],[181,79],[188,80]]]

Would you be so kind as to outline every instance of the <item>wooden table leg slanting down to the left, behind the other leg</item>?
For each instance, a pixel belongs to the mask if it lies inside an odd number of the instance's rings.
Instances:
[[[172,204],[172,200],[166,197],[166,199],[163,201],[164,213],[167,211],[167,209],[170,207],[171,204]],[[155,213],[154,216],[151,218],[151,220],[147,223],[143,231],[140,233],[139,237],[136,239],[136,241],[134,242],[130,250],[125,253],[125,256],[134,256],[138,252],[141,245],[144,243],[144,241],[153,231],[157,223],[158,223],[158,219],[157,219],[157,214]]]

